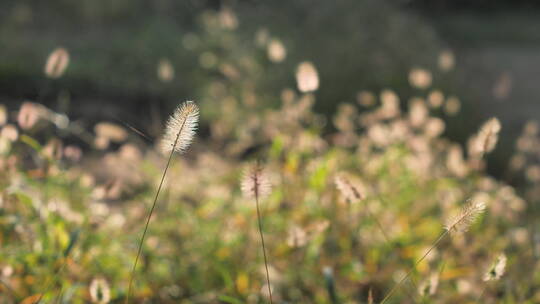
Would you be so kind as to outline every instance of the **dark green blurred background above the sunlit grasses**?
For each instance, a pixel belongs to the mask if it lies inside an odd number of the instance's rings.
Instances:
[[[446,133],[462,143],[479,121],[499,117],[505,148],[491,156],[496,175],[502,174],[496,164],[508,159],[524,122],[540,117],[535,1],[6,0],[0,5],[0,101],[37,101],[88,124],[113,115],[156,133],[158,127],[148,126],[159,125],[179,100],[222,102],[208,93],[208,83],[227,72],[251,79],[259,103],[272,107],[304,60],[313,62],[320,77],[315,111],[328,116],[338,104],[355,102],[362,90],[390,87],[402,100],[430,90],[458,98],[461,114],[447,121]],[[215,21],[209,11],[220,12],[222,27],[210,24]],[[52,82],[43,66],[60,46],[71,62]],[[246,58],[253,61],[241,71],[222,64]],[[413,68],[430,71],[429,89],[411,87]]]

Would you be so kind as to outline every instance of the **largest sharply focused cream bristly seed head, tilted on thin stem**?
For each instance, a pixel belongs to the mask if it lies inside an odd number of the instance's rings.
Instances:
[[[161,142],[163,152],[183,153],[193,141],[199,122],[199,107],[193,101],[178,106],[167,121]]]

